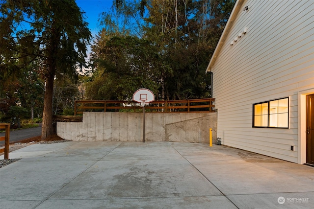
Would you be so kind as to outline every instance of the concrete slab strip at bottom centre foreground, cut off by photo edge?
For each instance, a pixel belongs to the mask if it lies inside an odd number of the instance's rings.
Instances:
[[[47,200],[36,209],[236,209],[224,196]]]

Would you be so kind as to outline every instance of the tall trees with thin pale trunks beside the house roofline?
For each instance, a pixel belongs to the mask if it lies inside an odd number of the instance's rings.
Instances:
[[[210,97],[204,73],[234,5],[233,0],[151,0],[145,37],[158,46],[172,74],[164,76],[167,99]]]

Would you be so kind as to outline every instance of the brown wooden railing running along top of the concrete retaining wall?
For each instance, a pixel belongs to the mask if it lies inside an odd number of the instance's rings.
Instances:
[[[145,112],[156,113],[209,113],[215,112],[214,98],[153,101],[145,106]],[[113,100],[77,100],[74,105],[75,116],[83,112],[140,112],[140,103]]]

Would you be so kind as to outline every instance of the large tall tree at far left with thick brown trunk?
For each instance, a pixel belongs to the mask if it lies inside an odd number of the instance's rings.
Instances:
[[[1,70],[10,74],[37,61],[46,82],[42,139],[53,134],[54,79],[77,78],[85,63],[87,25],[74,0],[0,1]]]

